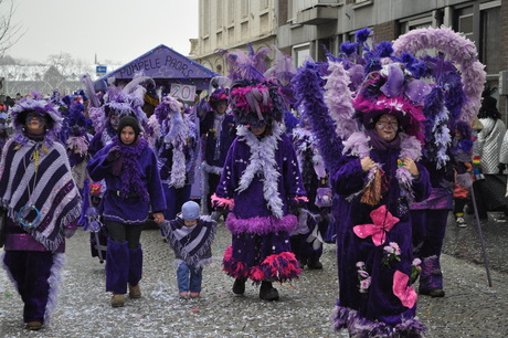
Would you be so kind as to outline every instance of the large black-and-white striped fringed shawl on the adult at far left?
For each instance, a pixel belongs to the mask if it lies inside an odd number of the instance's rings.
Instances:
[[[35,149],[40,152],[36,173],[32,160]],[[0,205],[18,222],[18,212],[29,203],[36,207],[41,218],[33,226],[23,229],[44,247],[55,251],[64,241],[63,226],[81,213],[80,191],[61,144],[43,148],[42,142],[28,140],[18,145],[11,139],[6,145],[0,161]],[[31,211],[25,220],[33,222],[35,218]]]

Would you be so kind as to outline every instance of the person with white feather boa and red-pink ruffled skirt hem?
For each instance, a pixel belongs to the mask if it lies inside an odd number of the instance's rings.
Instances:
[[[290,139],[279,122],[284,103],[272,81],[242,81],[231,89],[236,139],[231,145],[214,205],[231,210],[226,226],[233,243],[223,270],[235,278],[233,293],[244,294],[247,278],[261,283],[260,298],[277,300],[272,282],[296,278],[300,267],[292,253],[289,232],[297,219],[289,213],[305,198]]]

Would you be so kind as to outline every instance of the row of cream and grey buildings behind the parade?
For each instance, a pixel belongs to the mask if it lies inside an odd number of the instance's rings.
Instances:
[[[325,61],[339,45],[370,28],[377,41],[410,30],[449,27],[475,42],[487,85],[498,87],[500,112],[508,96],[508,0],[200,0],[200,36],[193,57],[224,74],[218,50],[257,51],[276,45],[296,66]],[[504,85],[506,83],[506,85]]]

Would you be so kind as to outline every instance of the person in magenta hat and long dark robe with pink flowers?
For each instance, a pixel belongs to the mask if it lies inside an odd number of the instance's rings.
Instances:
[[[428,172],[417,162],[421,144],[406,130],[417,129],[421,108],[403,95],[377,93],[391,76],[391,65],[369,76],[353,107],[363,131],[345,141],[342,166],[331,173],[340,196],[337,256],[339,302],[336,328],[359,337],[419,337],[413,262],[411,201],[428,197]],[[403,75],[402,75],[403,78]]]

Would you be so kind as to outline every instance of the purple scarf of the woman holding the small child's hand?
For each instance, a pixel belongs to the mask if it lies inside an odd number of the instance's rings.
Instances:
[[[138,137],[138,139],[131,146],[127,146],[120,142],[116,136],[113,139],[113,147],[115,146],[120,147],[120,156],[113,163],[112,173],[120,177],[121,196],[126,197],[131,193],[131,190],[134,190],[141,198],[141,200],[148,201],[148,191],[141,181],[138,165],[138,158],[148,147],[147,140]]]

